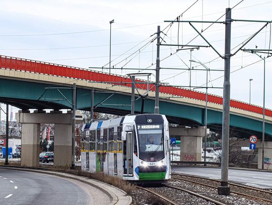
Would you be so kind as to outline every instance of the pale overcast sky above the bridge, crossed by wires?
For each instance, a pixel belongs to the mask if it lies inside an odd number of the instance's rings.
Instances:
[[[196,2],[196,3],[195,3]],[[165,20],[225,21],[225,9],[233,8],[239,1],[1,1],[0,7],[0,53],[2,55],[41,60],[77,67],[108,66],[109,21],[114,19],[111,30],[111,65],[135,68],[140,71],[155,68],[156,43],[151,43],[157,26],[161,26],[162,38],[167,44],[208,45],[188,23],[174,23],[171,27]],[[271,20],[272,1],[244,0],[232,10],[232,19]],[[232,22],[232,53],[265,23]],[[167,27],[168,26],[168,27]],[[202,35],[224,55],[224,24],[193,23]],[[210,27],[209,27],[210,26]],[[209,27],[208,29],[206,29]],[[270,24],[256,35],[245,48],[269,49]],[[150,37],[153,35],[152,37]],[[196,37],[196,38],[195,38]],[[192,40],[193,39],[193,40]],[[192,40],[192,41],[191,41]],[[190,42],[191,41],[191,42]],[[163,42],[163,43],[165,43]],[[238,46],[236,49],[235,47]],[[140,49],[140,51],[139,51]],[[190,67],[190,50],[176,52],[176,46],[161,46],[161,67]],[[134,53],[134,54],[133,54]],[[171,55],[172,53],[172,55]],[[132,55],[131,55],[132,54]],[[210,69],[224,69],[224,60],[212,48],[200,48],[191,52],[192,59],[206,63]],[[263,54],[262,54],[263,56]],[[265,55],[267,56],[267,55]],[[260,61],[259,61],[260,60]],[[259,62],[256,62],[259,61]],[[265,107],[272,108],[272,57],[266,60]],[[253,64],[252,64],[253,63]],[[205,69],[198,63],[192,67]],[[97,69],[102,71],[101,69]],[[108,70],[104,70],[108,72]],[[137,71],[114,70],[125,75]],[[147,71],[143,71],[147,73]],[[152,71],[148,71],[151,73]],[[263,61],[255,54],[239,51],[231,58],[231,98],[249,102],[249,79],[251,103],[263,103]],[[154,73],[154,72],[153,72]],[[210,72],[209,86],[223,87],[223,72]],[[153,78],[152,80],[155,80]],[[189,86],[189,72],[161,70],[161,82]],[[205,71],[192,71],[191,85],[206,83]],[[197,89],[205,92],[205,89]],[[209,93],[223,96],[223,89],[209,89]],[[2,116],[3,118],[3,116]]]

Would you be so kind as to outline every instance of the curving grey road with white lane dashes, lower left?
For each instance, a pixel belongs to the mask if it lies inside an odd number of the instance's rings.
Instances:
[[[0,204],[109,204],[108,196],[62,177],[0,168]],[[99,199],[97,201],[97,196]],[[101,197],[104,199],[101,200]]]

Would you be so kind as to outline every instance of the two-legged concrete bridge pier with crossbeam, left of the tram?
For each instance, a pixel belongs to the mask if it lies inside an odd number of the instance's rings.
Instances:
[[[55,124],[54,167],[72,165],[72,114],[71,113],[16,113],[22,123],[21,165],[39,166],[40,124]]]

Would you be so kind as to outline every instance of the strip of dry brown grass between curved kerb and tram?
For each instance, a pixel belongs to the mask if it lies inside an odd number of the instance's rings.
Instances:
[[[129,183],[126,180],[121,179],[120,177],[116,176],[110,176],[105,173],[99,172],[99,173],[88,173],[88,172],[82,172],[82,171],[77,171],[77,170],[70,170],[66,169],[66,173],[71,173],[71,174],[76,174],[78,176],[85,176],[89,177],[91,179],[96,179],[98,181],[103,181],[107,184],[111,184],[115,187],[118,187],[119,189],[122,189],[125,191],[128,195],[131,194],[133,190],[135,190],[135,185]]]

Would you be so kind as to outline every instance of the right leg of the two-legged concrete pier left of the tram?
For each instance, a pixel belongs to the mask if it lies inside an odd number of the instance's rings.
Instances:
[[[54,167],[72,166],[72,124],[55,124]]]

